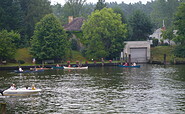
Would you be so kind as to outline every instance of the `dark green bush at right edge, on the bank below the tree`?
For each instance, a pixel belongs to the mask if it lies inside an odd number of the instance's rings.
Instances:
[[[176,57],[185,58],[185,45],[176,46],[173,50],[173,53]]]

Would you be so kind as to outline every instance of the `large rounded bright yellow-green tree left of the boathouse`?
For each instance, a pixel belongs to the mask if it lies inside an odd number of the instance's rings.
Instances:
[[[85,55],[89,59],[118,57],[127,33],[121,16],[111,8],[93,12],[84,22],[82,31],[81,42],[86,46]]]

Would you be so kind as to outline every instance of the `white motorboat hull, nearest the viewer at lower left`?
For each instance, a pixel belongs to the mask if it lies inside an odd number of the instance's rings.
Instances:
[[[26,89],[26,88],[20,88],[16,90],[7,89],[3,91],[3,95],[4,96],[27,96],[31,94],[36,94],[41,91],[42,91],[41,89],[32,90],[32,89]]]

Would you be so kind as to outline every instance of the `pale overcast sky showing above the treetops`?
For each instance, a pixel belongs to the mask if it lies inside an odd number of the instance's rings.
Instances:
[[[51,4],[56,4],[56,3],[60,3],[60,4],[64,4],[66,0],[50,0],[51,1]],[[147,1],[151,1],[151,0],[105,0],[105,2],[117,2],[117,3],[121,3],[121,2],[124,2],[124,3],[135,3],[135,2],[139,2],[141,1],[143,4],[146,4]],[[97,3],[98,0],[86,0],[87,3]]]

